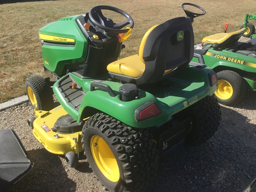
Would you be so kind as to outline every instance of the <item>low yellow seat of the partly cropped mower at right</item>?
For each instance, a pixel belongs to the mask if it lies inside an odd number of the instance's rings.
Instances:
[[[217,48],[228,48],[236,44],[236,42],[240,39],[244,32],[246,32],[245,28],[230,33],[217,33],[211,36],[204,37],[202,42],[210,44],[218,43]]]

